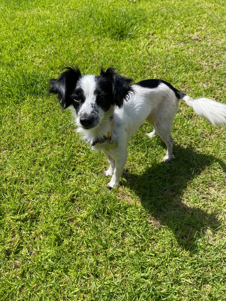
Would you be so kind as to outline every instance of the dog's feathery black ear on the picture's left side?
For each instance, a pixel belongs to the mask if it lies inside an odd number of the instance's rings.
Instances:
[[[57,79],[51,79],[49,82],[49,93],[57,94],[62,109],[66,109],[72,104],[71,95],[74,92],[76,84],[82,77],[77,67],[66,67]]]

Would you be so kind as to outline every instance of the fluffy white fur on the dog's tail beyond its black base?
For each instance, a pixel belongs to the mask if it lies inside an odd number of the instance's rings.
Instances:
[[[209,98],[192,99],[188,95],[182,98],[199,116],[206,118],[213,126],[226,123],[226,104]]]

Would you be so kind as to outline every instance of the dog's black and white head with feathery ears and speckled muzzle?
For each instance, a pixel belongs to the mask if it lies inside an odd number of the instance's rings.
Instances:
[[[99,76],[82,76],[77,67],[67,67],[57,79],[50,80],[49,92],[58,95],[62,109],[73,106],[77,124],[91,129],[112,106],[123,107],[133,93],[132,79],[121,76],[116,68],[101,69]]]

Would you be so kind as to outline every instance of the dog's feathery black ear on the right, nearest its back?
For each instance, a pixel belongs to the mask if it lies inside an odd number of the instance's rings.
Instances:
[[[117,70],[117,68],[113,67],[108,68],[106,71],[101,69],[100,76],[105,78],[108,84],[111,85],[112,104],[121,108],[124,102],[129,99],[131,93],[134,93],[134,89],[131,86],[133,79],[118,74]]]

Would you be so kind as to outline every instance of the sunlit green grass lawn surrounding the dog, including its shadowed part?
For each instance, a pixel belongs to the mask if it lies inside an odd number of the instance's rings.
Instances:
[[[129,143],[121,186],[48,81],[76,63],[226,103],[224,1],[1,0],[0,299],[226,300],[225,127],[182,101],[174,161]]]

